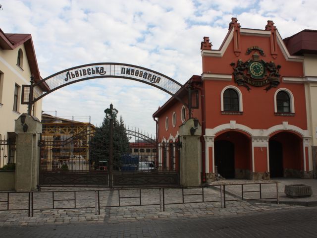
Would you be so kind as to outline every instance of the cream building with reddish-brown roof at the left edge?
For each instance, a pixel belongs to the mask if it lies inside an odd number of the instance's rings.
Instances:
[[[6,34],[0,29],[0,140],[14,136],[14,120],[27,113],[21,104],[22,85],[41,80],[31,34]],[[32,115],[41,119],[42,100]]]

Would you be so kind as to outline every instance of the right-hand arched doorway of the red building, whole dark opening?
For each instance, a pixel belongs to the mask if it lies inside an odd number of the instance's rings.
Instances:
[[[282,131],[271,135],[268,142],[270,177],[301,177],[303,165],[302,138]]]

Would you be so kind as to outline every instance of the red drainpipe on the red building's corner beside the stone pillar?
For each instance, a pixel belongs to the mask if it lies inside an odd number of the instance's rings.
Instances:
[[[206,134],[206,112],[205,112],[205,88],[200,86],[195,86],[195,88],[199,89],[201,92],[201,107],[202,107],[202,136],[201,136],[201,142],[202,142],[202,170],[203,170],[203,178],[202,181],[206,182],[206,142],[204,135]]]

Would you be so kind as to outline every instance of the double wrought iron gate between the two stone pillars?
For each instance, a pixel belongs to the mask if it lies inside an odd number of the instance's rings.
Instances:
[[[121,142],[126,138],[125,153],[112,148],[113,173],[109,178],[107,140],[96,138],[92,129],[78,132],[71,128],[72,133],[61,127],[50,136],[43,133],[39,142],[41,186],[109,186],[109,181],[115,187],[179,184],[180,153],[177,142],[157,143],[142,131],[125,128],[123,137],[116,135]],[[118,143],[115,141],[114,147]],[[122,143],[119,146],[122,147]]]

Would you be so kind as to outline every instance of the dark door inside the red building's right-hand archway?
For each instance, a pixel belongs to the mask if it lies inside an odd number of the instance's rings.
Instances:
[[[282,143],[270,140],[269,146],[269,172],[271,178],[283,177],[283,146]]]

